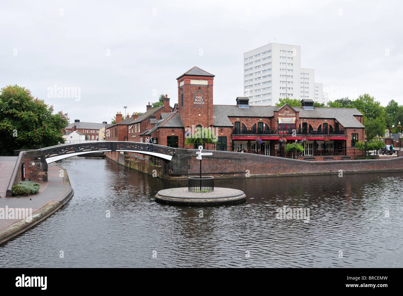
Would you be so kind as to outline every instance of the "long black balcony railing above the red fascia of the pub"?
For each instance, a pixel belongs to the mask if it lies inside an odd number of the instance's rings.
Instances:
[[[263,129],[263,128],[234,128],[233,134],[293,134],[298,135],[324,135],[324,134],[346,134],[345,128],[335,130],[333,128],[277,128],[277,129]]]

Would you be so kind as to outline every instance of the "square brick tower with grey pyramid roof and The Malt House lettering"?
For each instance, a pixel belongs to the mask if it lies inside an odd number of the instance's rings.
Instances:
[[[186,128],[213,127],[214,75],[193,67],[177,78],[178,108]]]

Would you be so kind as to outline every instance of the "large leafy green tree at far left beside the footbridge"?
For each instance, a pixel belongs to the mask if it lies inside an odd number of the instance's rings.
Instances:
[[[28,89],[18,85],[1,89],[0,155],[64,143],[62,129],[68,124],[66,113],[53,114],[53,106],[34,99]]]

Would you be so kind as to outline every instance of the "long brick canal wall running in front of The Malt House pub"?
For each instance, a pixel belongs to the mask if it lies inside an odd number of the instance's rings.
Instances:
[[[164,161],[162,176],[183,179],[199,174],[199,160],[194,149],[177,149],[172,161]],[[209,151],[202,160],[202,174],[217,178],[281,176],[302,174],[339,174],[356,172],[403,171],[403,157],[376,160],[305,161],[250,153]]]

